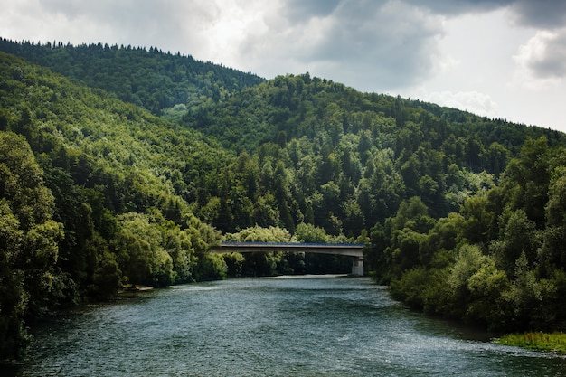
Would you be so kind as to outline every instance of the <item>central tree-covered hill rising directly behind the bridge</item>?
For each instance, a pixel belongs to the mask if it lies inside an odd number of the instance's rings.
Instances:
[[[458,211],[495,184],[529,137],[564,142],[548,129],[447,118],[308,74],[242,90],[184,117],[238,154],[198,211],[223,230],[257,223],[292,232],[304,221],[355,238],[413,196],[433,218]]]

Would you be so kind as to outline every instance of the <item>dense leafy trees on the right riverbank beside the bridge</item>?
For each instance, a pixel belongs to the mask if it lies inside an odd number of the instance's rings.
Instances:
[[[376,278],[391,279],[391,293],[410,306],[493,330],[566,328],[563,156],[544,138],[527,140],[499,185],[468,196],[431,228],[415,221],[426,213],[418,201],[401,203],[373,231],[384,252],[370,261],[386,266]]]

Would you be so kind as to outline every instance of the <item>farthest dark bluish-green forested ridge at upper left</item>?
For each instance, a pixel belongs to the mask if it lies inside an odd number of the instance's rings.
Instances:
[[[0,37],[0,51],[48,67],[80,84],[115,93],[119,99],[156,115],[182,111],[187,104],[204,99],[226,99],[264,80],[252,73],[154,47],[147,50],[102,43],[20,43]]]

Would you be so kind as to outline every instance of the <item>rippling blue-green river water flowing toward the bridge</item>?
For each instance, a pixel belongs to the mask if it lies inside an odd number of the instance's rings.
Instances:
[[[2,374],[2,373],[0,373]],[[416,314],[368,278],[231,279],[81,307],[14,376],[560,376],[566,359]]]

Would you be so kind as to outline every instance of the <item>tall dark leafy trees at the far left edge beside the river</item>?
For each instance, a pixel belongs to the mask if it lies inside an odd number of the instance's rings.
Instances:
[[[25,316],[58,296],[55,264],[62,224],[24,137],[0,131],[0,357],[17,357],[28,340]]]

